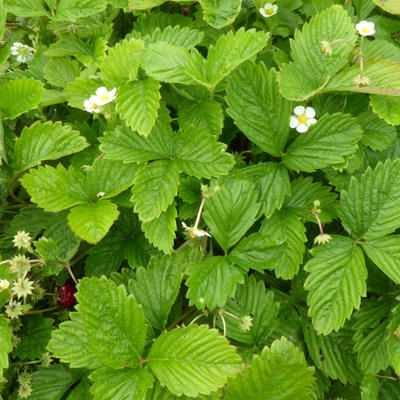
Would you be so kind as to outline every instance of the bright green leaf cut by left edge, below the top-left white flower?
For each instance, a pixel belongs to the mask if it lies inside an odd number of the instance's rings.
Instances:
[[[14,119],[36,108],[43,94],[43,84],[31,79],[15,79],[0,86],[0,115]]]

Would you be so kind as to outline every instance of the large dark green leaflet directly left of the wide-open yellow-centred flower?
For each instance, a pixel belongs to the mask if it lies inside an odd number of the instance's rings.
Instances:
[[[292,103],[279,93],[277,73],[264,63],[246,63],[228,81],[227,112],[265,152],[280,157],[289,138]]]

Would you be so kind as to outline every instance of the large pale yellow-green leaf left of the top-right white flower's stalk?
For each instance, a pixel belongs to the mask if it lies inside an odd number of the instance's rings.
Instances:
[[[329,79],[349,61],[348,43],[332,45],[332,54],[322,51],[322,41],[343,39],[355,45],[356,29],[347,11],[334,5],[304,24],[291,42],[293,62],[285,64],[279,75],[281,93],[290,100],[306,100],[323,90]],[[358,68],[358,73],[359,73]],[[354,84],[353,84],[354,85]]]

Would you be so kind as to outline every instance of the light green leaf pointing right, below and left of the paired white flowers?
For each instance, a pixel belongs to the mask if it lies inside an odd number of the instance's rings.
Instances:
[[[56,160],[77,153],[88,146],[86,139],[68,125],[57,121],[35,122],[25,127],[15,141],[14,173],[40,164],[43,160]]]

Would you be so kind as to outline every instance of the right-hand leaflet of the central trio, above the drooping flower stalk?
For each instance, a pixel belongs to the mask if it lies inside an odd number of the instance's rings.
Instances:
[[[233,166],[232,155],[225,149],[226,145],[217,142],[215,136],[187,129],[177,138],[175,159],[188,175],[211,178],[227,174]]]

